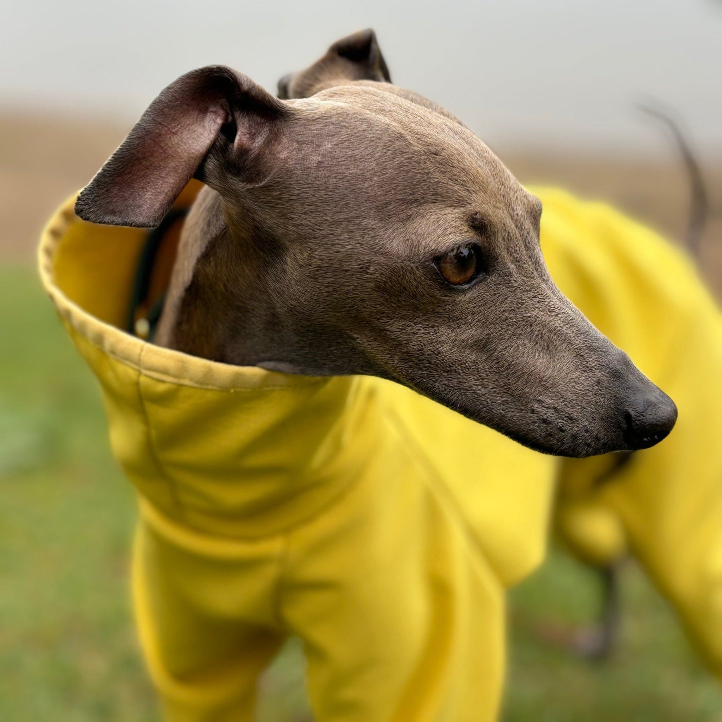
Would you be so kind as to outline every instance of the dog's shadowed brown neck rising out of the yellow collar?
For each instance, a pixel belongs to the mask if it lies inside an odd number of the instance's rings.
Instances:
[[[157,344],[286,373],[344,375],[362,368],[383,375],[349,340],[274,308],[258,272],[264,260],[255,258],[266,245],[252,231],[231,228],[219,194],[203,188],[183,227]]]

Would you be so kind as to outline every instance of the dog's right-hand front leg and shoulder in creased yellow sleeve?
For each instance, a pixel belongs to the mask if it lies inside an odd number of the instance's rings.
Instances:
[[[403,456],[399,469],[371,460],[373,477],[290,536],[282,617],[305,646],[313,711],[318,722],[494,722],[503,587]]]

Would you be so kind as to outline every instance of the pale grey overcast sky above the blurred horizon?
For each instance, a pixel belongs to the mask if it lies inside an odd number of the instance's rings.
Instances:
[[[4,0],[0,109],[134,120],[211,63],[275,90],[369,26],[394,82],[492,145],[669,149],[635,110],[651,97],[722,154],[722,0]]]

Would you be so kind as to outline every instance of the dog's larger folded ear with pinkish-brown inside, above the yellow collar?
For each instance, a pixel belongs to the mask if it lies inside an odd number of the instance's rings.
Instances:
[[[193,70],[151,103],[80,193],[75,212],[110,225],[157,226],[191,178],[214,186],[211,156],[239,174],[290,115],[290,105],[225,66]],[[210,151],[210,152],[209,152]]]

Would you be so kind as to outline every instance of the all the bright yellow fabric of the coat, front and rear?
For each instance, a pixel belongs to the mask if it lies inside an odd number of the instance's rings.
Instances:
[[[679,406],[669,439],[600,487],[606,461],[562,464],[388,381],[230,367],[129,336],[117,326],[144,232],[83,222],[74,199],[51,220],[43,282],[139,490],[136,616],[170,720],[251,719],[287,635],[321,722],[495,720],[504,591],[544,557],[560,471],[558,508],[609,522],[722,657],[717,310],[650,230],[534,190],[557,283]]]

